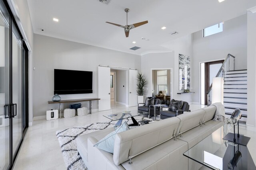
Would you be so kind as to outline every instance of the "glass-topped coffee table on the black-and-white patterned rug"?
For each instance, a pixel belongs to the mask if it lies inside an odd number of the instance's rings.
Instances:
[[[138,122],[134,119],[136,116],[143,116],[143,115],[148,115],[148,112],[140,111],[140,110],[132,110],[132,111],[123,111],[120,113],[113,113],[113,114],[108,114],[108,115],[103,115],[104,117],[107,117],[108,119],[112,121],[118,120],[116,123],[115,127],[118,127],[121,125],[123,119],[126,118],[131,118],[132,119],[132,124],[129,126],[138,126]]]

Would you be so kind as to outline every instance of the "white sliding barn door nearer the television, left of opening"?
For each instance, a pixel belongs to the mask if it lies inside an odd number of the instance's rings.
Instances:
[[[99,111],[110,110],[110,68],[98,66]]]

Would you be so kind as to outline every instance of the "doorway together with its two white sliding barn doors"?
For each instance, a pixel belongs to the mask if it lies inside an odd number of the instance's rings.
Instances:
[[[138,95],[136,93],[136,76],[138,70],[133,68],[121,68],[111,66],[98,66],[98,110],[111,109],[111,82],[110,72],[114,72],[114,102],[133,107],[138,105]]]

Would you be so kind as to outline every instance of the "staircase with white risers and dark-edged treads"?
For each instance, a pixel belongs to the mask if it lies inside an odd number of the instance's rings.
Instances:
[[[247,119],[247,70],[227,71],[224,78],[224,106],[230,117],[238,108],[242,111],[240,121]],[[242,122],[241,122],[242,123]]]

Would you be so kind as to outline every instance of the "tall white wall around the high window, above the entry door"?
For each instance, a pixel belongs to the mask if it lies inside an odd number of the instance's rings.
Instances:
[[[235,69],[247,68],[247,16],[242,15],[225,21],[223,32],[202,37],[202,30],[193,33],[193,65],[191,66],[193,101],[200,102],[200,66],[203,61],[224,59],[228,53],[234,55]]]

